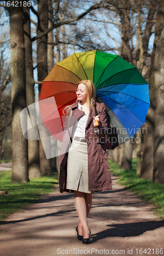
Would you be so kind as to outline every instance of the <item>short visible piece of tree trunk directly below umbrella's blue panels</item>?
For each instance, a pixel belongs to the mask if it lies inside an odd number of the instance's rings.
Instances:
[[[121,162],[121,168],[122,169],[131,169],[131,160],[132,160],[132,141],[129,140],[128,142],[125,142],[123,148],[123,156],[122,156],[122,162]]]

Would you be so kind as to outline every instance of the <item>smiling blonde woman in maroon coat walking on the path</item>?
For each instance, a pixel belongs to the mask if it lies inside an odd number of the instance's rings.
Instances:
[[[91,231],[87,217],[94,191],[112,189],[105,143],[107,118],[103,103],[97,103],[92,81],[83,80],[76,86],[77,100],[65,109],[67,121],[59,157],[59,185],[63,191],[74,191],[79,217],[77,238],[90,243]],[[97,123],[98,122],[98,126]],[[71,135],[71,136],[70,136]]]

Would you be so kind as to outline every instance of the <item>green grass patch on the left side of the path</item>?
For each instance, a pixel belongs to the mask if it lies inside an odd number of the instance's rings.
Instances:
[[[7,190],[9,194],[0,195],[0,221],[33,203],[40,195],[55,190],[55,184],[58,184],[58,173],[33,178],[27,183],[11,183],[11,170],[0,172],[0,190]]]

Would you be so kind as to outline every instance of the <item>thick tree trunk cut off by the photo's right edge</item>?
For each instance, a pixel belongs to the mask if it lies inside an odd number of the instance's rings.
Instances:
[[[164,2],[159,1],[159,10],[162,20],[164,19]],[[154,168],[153,181],[164,183],[164,26],[159,36],[154,59],[154,76],[156,91],[156,111],[154,126]]]

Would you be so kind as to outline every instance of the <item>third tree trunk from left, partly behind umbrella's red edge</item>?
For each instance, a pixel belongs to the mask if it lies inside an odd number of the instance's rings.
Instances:
[[[38,1],[38,29],[37,34],[40,35],[48,29],[48,2],[47,0]],[[43,81],[48,74],[47,71],[47,34],[37,40],[37,70],[38,81]],[[39,95],[41,85],[39,84]],[[42,126],[42,133],[46,137],[46,128]],[[49,134],[47,134],[49,136]],[[49,138],[50,139],[50,138]],[[47,139],[47,144],[50,143]],[[48,145],[47,145],[48,147]],[[50,147],[50,145],[49,145]],[[42,141],[39,140],[39,157],[41,175],[49,175],[51,171],[51,159],[46,159]]]

